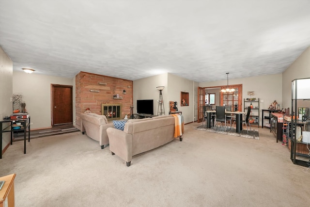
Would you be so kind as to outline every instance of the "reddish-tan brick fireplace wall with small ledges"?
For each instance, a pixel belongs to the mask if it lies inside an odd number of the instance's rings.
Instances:
[[[130,106],[133,104],[132,84],[131,80],[79,72],[76,75],[76,127],[81,129],[80,113],[87,108],[101,115],[101,104],[122,104],[121,118],[124,118],[126,114],[130,117]],[[114,97],[116,94],[123,99]]]

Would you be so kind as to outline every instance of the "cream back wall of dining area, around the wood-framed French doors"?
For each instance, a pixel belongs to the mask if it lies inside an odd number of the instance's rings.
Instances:
[[[227,80],[201,82],[200,87],[223,86]],[[277,100],[282,106],[282,74],[272,74],[265,76],[248,77],[241,79],[229,79],[229,84],[242,84],[242,98],[249,98],[248,91],[255,92],[255,98],[260,98],[260,122],[262,122],[262,109],[268,109],[269,105]],[[243,100],[242,99],[242,100]],[[243,104],[243,101],[242,101]]]

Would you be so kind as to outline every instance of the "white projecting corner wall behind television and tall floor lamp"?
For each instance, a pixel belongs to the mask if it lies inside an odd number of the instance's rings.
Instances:
[[[157,76],[152,76],[140,80],[133,81],[133,105],[134,112],[137,110],[137,100],[139,99],[153,99],[154,100],[154,114],[158,112],[159,91],[156,89],[157,86],[165,86],[162,91],[165,114],[168,115],[170,111],[169,101],[178,102],[178,110],[182,111],[184,116],[184,122],[193,122],[194,117],[197,120],[197,87],[198,83],[192,80],[187,80],[170,73],[165,73]],[[189,93],[189,105],[181,106],[181,91]],[[196,91],[196,92],[195,92]],[[196,99],[195,99],[196,93]],[[196,101],[196,104],[195,104]],[[196,107],[196,112],[195,112]]]

